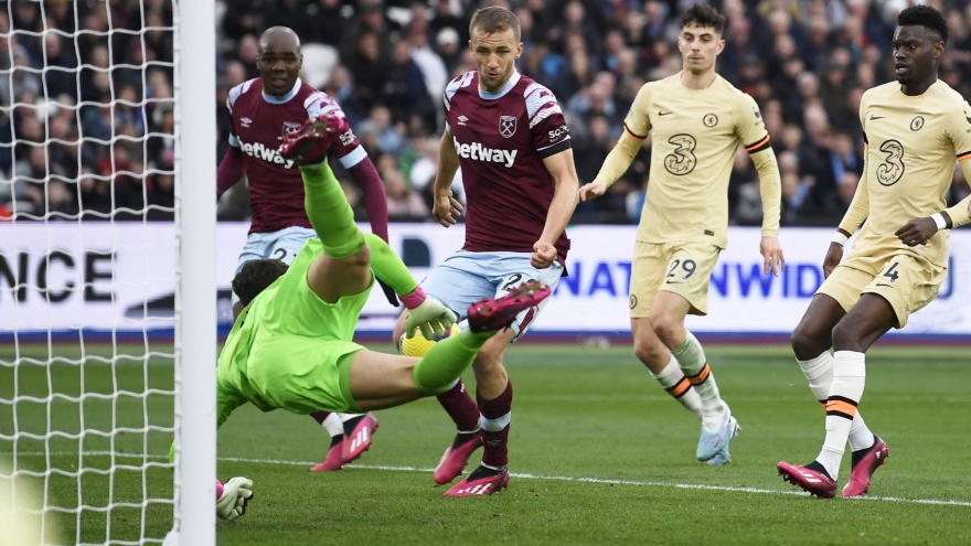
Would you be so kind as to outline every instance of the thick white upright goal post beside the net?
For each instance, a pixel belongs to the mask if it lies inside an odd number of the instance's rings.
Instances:
[[[175,10],[175,526],[180,546],[215,545],[215,2]]]

